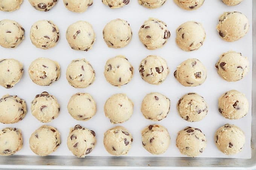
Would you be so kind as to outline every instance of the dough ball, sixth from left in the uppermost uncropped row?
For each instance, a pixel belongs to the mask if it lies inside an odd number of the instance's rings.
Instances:
[[[187,21],[176,30],[176,44],[184,51],[198,50],[205,38],[206,33],[202,24],[196,21]]]

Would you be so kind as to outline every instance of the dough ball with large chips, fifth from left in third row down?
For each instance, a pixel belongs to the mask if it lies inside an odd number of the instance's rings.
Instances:
[[[159,85],[168,76],[169,68],[165,59],[150,55],[140,63],[139,72],[141,78],[149,84]]]

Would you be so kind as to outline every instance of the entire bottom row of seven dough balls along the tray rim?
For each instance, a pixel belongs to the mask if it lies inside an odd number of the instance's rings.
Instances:
[[[168,149],[171,137],[162,125],[146,126],[142,132],[142,146],[153,155],[160,155]],[[84,158],[96,145],[96,133],[76,125],[70,129],[67,146],[73,155]],[[214,135],[217,148],[226,155],[234,155],[242,151],[245,144],[244,132],[235,125],[225,124]],[[133,136],[122,126],[108,129],[103,143],[108,153],[114,156],[126,155],[133,143]],[[52,126],[43,125],[31,134],[30,149],[37,155],[47,156],[61,144],[60,133]],[[178,132],[176,146],[180,152],[189,157],[200,156],[206,149],[207,140],[198,128],[186,127]],[[0,131],[0,155],[9,156],[20,150],[23,138],[20,129],[5,128]]]

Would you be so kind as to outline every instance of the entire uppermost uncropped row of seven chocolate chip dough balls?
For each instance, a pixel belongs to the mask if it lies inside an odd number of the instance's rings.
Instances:
[[[219,17],[217,31],[224,41],[237,41],[245,36],[248,30],[249,21],[240,12],[224,12]],[[123,48],[132,38],[130,24],[122,19],[111,20],[102,33],[105,43],[110,48]],[[171,33],[166,23],[157,18],[149,18],[139,30],[139,39],[149,50],[162,48],[170,36]],[[176,44],[185,51],[198,50],[205,38],[206,33],[202,24],[196,21],[187,21],[176,30]],[[2,47],[15,48],[23,39],[24,29],[20,24],[12,20],[0,21],[0,45]],[[66,39],[72,49],[88,51],[93,47],[96,35],[90,23],[77,21],[67,28]],[[52,21],[37,21],[30,29],[30,40],[38,48],[55,47],[59,40],[59,29]]]

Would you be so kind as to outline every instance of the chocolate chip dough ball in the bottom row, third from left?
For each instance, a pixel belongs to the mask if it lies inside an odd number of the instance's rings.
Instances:
[[[94,149],[96,144],[95,135],[94,131],[76,125],[70,129],[69,137],[67,137],[67,147],[73,155],[84,158]]]

